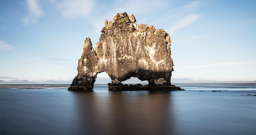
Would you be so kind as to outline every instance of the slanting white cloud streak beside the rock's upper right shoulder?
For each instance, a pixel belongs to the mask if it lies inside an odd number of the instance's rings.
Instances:
[[[182,29],[194,22],[196,22],[199,19],[200,15],[198,14],[190,14],[184,18],[182,18],[180,21],[178,21],[178,23],[176,25],[174,25],[170,32],[171,34],[175,33],[175,31]]]

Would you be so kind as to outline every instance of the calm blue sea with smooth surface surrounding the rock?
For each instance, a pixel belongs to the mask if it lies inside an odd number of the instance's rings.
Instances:
[[[67,91],[0,85],[0,134],[256,134],[256,84],[174,84],[184,91]]]

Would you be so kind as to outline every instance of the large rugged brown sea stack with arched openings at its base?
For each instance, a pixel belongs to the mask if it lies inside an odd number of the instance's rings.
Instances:
[[[78,61],[78,74],[68,90],[91,91],[97,74],[106,72],[112,80],[109,90],[178,90],[171,86],[173,60],[171,39],[163,29],[136,24],[133,14],[118,13],[105,21],[99,42],[92,47],[89,38]],[[148,80],[148,86],[126,86],[130,77]]]

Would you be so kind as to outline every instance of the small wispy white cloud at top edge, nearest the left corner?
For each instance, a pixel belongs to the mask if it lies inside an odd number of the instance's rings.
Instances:
[[[43,15],[43,11],[37,0],[26,0],[29,13],[22,18],[22,23],[25,25],[37,23],[37,19]]]

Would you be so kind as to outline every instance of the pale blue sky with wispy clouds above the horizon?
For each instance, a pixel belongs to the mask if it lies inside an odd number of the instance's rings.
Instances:
[[[0,79],[72,80],[84,40],[95,46],[105,19],[126,12],[170,34],[172,78],[256,80],[255,7],[236,0],[0,0]]]

